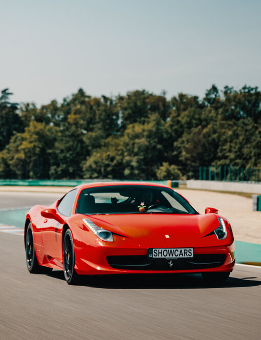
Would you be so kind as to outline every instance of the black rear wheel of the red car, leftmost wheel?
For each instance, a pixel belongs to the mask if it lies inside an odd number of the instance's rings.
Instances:
[[[26,247],[26,265],[28,271],[34,274],[50,274],[52,268],[40,266],[37,261],[34,248],[33,229],[31,223],[28,225],[26,231],[25,247]]]

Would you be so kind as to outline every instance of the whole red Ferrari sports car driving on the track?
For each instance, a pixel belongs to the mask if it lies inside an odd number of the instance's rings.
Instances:
[[[175,190],[141,182],[75,187],[50,207],[35,205],[25,222],[28,270],[81,275],[202,273],[224,282],[235,264],[231,225],[201,215]]]

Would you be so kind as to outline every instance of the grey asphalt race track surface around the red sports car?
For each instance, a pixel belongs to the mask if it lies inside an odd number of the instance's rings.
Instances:
[[[0,193],[0,208],[52,203],[61,195]],[[1,223],[1,221],[0,221]],[[0,339],[261,338],[261,267],[236,265],[226,285],[200,275],[91,279],[29,274],[23,237],[0,232]]]

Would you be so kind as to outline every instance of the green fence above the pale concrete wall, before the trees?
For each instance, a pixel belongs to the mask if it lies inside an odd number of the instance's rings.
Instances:
[[[261,168],[235,166],[200,166],[199,179],[209,181],[260,182]]]

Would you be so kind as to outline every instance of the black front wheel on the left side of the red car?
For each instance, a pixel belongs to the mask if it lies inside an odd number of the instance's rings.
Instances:
[[[76,273],[74,269],[75,265],[74,245],[70,229],[67,229],[66,232],[64,233],[62,259],[63,259],[63,273],[66,282],[69,285],[74,285],[78,283],[79,275]]]

